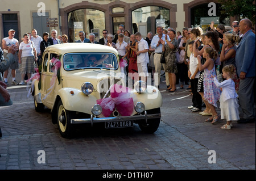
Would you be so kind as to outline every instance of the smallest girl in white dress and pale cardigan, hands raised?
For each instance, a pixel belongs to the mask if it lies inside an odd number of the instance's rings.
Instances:
[[[231,121],[240,120],[237,102],[237,93],[235,83],[232,77],[236,73],[234,65],[226,65],[222,69],[222,76],[226,79],[219,83],[214,77],[214,83],[217,87],[222,88],[220,96],[221,119],[226,119],[226,124],[222,125],[221,129],[230,129]]]

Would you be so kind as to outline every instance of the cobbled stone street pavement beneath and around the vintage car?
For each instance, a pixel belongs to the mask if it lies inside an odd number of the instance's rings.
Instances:
[[[68,140],[52,125],[49,110],[35,112],[26,86],[10,85],[14,104],[0,108],[0,170],[255,170],[255,123],[221,130],[224,121],[211,125],[204,122],[208,116],[188,110],[187,90],[169,93],[164,83],[160,88],[162,121],[154,134],[142,133],[138,125],[81,127]],[[38,163],[39,150],[46,163]],[[216,163],[208,163],[209,150],[216,151]]]

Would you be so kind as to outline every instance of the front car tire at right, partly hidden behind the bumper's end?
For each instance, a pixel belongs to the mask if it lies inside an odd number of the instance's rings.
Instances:
[[[147,115],[154,114],[154,113],[161,113],[160,108],[155,108],[152,110],[147,110]],[[142,121],[139,124],[139,128],[141,128],[141,131],[145,133],[154,133],[159,127],[161,118],[156,119],[148,119],[147,123],[146,121]]]

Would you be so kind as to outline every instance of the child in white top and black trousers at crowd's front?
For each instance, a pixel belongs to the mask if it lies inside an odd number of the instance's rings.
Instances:
[[[200,111],[202,108],[202,98],[199,92],[197,92],[197,84],[198,84],[200,71],[197,66],[198,60],[193,53],[193,43],[195,43],[195,41],[190,41],[188,43],[189,51],[192,52],[189,58],[190,64],[189,64],[189,70],[188,70],[188,77],[191,82],[191,90],[193,93],[193,97],[192,97],[193,104],[188,108],[191,109],[191,111],[193,112],[197,112],[197,111]]]

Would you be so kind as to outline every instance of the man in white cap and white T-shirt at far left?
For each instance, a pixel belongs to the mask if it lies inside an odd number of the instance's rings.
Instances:
[[[17,39],[14,38],[15,35],[15,30],[11,29],[8,32],[9,37],[5,37],[2,40],[2,44],[3,44],[3,56],[6,58],[7,53],[8,53],[8,49],[9,47],[11,47],[11,45],[16,45],[16,47],[19,47],[19,41]],[[14,54],[14,58],[15,58],[15,62],[13,64],[11,64],[10,69],[11,69],[11,75],[13,76],[13,85],[18,85],[18,82],[16,82],[16,69],[19,68],[19,64],[18,64],[18,54],[15,53]],[[9,73],[9,70],[7,69],[5,71],[5,74],[3,75],[3,82],[6,83],[6,85],[8,85],[8,81],[7,81],[7,75]]]

